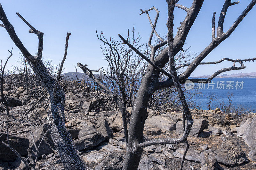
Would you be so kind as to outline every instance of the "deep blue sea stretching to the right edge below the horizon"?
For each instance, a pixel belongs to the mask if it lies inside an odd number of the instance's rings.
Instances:
[[[217,100],[212,106],[220,105],[220,101],[228,101],[227,94],[233,93],[232,104],[242,105],[256,111],[256,78],[213,78],[210,84],[195,83],[194,90],[198,95],[193,101],[196,106],[207,110],[209,95],[215,94]],[[213,108],[214,109],[214,108]]]

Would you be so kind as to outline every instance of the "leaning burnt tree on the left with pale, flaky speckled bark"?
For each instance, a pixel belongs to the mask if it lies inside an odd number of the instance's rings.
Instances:
[[[36,56],[31,55],[22,44],[14,31],[14,27],[7,19],[2,5],[0,4],[0,19],[3,22],[3,24],[1,24],[0,26],[6,29],[7,33],[10,35],[10,38],[12,39],[14,44],[20,49],[22,55],[27,59],[30,67],[35,72],[36,76],[42,82],[50,95],[51,113],[48,114],[47,121],[49,123],[50,135],[52,137],[57,152],[60,154],[61,161],[66,169],[90,169],[86,167],[81,160],[76,150],[74,141],[72,140],[70,133],[65,127],[65,95],[63,88],[60,84],[58,84],[60,80],[62,66],[67,55],[68,38],[71,33],[67,33],[64,57],[59,67],[58,76],[55,80],[42,62],[44,33],[36,30],[33,26],[31,26],[28,21],[24,19],[18,12],[17,15],[31,28],[29,30],[29,33],[35,33],[38,36],[38,50]]]

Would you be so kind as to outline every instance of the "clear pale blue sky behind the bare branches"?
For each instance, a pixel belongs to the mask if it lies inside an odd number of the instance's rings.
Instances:
[[[224,31],[233,24],[250,0],[243,0],[240,4],[228,8],[224,22]],[[190,7],[192,0],[180,0],[180,4]],[[205,0],[201,11],[192,26],[184,45],[191,47],[193,53],[200,53],[212,41],[212,12],[216,11],[216,25],[224,0]],[[74,72],[77,62],[88,64],[91,69],[107,67],[100,50],[101,41],[96,37],[96,30],[103,31],[105,37],[119,40],[118,33],[127,37],[127,30],[135,26],[140,32],[141,43],[148,41],[151,26],[146,14],[139,15],[140,9],[146,10],[155,6],[160,11],[156,30],[160,35],[167,33],[167,3],[165,0],[1,0],[4,11],[15,28],[19,38],[31,54],[36,54],[37,36],[28,33],[29,27],[16,15],[19,12],[37,30],[44,33],[43,57],[50,58],[56,65],[63,58],[66,33],[71,32],[68,43],[68,55],[64,63],[64,72]],[[155,18],[155,11],[150,11],[151,19]],[[174,33],[183,21],[186,12],[181,9],[174,11]],[[204,62],[217,61],[223,57],[233,59],[253,58],[256,56],[256,6],[246,15],[231,36],[212,51]],[[13,56],[8,62],[7,69],[18,64],[19,50],[14,45],[6,30],[0,27],[0,59],[9,56],[8,49],[13,47]],[[227,72],[254,72],[256,63],[245,63],[245,70]],[[218,65],[200,66],[193,75],[207,75],[223,68],[232,66],[231,62]],[[78,70],[78,72],[82,72]]]

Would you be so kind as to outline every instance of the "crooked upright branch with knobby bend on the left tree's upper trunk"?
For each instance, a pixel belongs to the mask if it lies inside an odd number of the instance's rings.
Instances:
[[[16,13],[22,21],[24,21],[31,29],[28,31],[29,33],[35,33],[38,37],[38,49],[37,49],[37,58],[41,60],[42,58],[42,52],[43,52],[43,38],[44,38],[44,33],[36,30],[32,25],[29,24],[29,22],[23,18],[19,12]]]

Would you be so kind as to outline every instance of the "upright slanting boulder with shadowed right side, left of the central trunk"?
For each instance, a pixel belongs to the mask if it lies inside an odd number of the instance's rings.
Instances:
[[[103,116],[95,122],[95,128],[103,135],[105,140],[112,138],[111,129]]]

